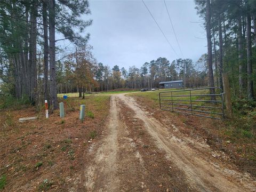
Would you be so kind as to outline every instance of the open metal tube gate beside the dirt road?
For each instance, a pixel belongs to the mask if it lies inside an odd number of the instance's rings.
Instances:
[[[211,92],[213,92],[212,94]],[[160,109],[214,119],[224,117],[220,87],[164,91],[159,93]]]

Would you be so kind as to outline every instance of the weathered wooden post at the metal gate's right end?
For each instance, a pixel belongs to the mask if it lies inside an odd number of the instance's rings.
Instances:
[[[226,73],[222,74],[223,79],[223,88],[224,88],[224,97],[225,97],[225,103],[226,103],[226,113],[228,118],[232,118],[232,102],[231,102],[231,91],[230,91],[230,85],[228,80],[228,75]]]

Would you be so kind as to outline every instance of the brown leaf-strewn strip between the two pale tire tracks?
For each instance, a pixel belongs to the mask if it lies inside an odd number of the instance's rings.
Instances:
[[[186,177],[182,171],[165,158],[163,150],[156,147],[143,121],[134,117],[134,111],[123,101],[119,101],[118,104],[124,127],[129,133],[129,138],[132,138],[133,145],[136,146],[136,157],[145,168],[140,171],[145,178],[145,182],[141,182],[141,190],[133,188],[132,191],[195,191],[190,188],[187,180],[183,179]]]

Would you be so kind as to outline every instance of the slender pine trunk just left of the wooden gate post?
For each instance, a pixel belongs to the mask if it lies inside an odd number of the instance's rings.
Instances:
[[[223,83],[222,83],[222,68],[223,68],[223,40],[222,40],[222,26],[221,26],[221,15],[219,13],[218,18],[218,27],[219,27],[219,86],[223,91]]]

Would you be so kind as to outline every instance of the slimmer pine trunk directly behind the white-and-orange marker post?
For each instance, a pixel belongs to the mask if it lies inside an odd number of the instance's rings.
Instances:
[[[48,22],[47,2],[43,1],[43,25],[44,25],[44,99],[49,100],[48,92],[48,68],[49,68],[49,45],[48,45]]]

